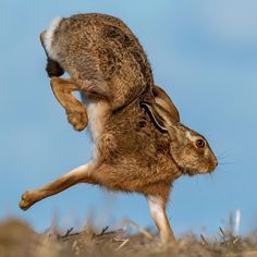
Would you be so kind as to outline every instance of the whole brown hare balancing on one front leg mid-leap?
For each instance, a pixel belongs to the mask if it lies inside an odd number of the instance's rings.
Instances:
[[[75,130],[87,122],[95,144],[89,163],[38,189],[25,192],[20,207],[77,183],[143,194],[162,243],[176,243],[166,206],[172,182],[204,174],[218,162],[207,140],[180,123],[167,96],[154,85],[137,38],[119,19],[79,14],[54,20],[41,34],[51,86]],[[68,72],[71,79],[61,76]],[[85,106],[72,96],[78,90]]]

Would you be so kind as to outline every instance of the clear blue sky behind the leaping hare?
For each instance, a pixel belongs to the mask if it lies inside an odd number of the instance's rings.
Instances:
[[[205,135],[220,166],[211,175],[182,178],[168,209],[175,234],[215,233],[229,211],[242,212],[241,232],[257,228],[257,2],[0,0],[0,218],[16,216],[38,231],[53,217],[100,225],[126,217],[154,225],[142,196],[78,185],[23,212],[20,195],[90,159],[86,132],[68,124],[45,72],[38,35],[56,16],[101,12],[136,34],[182,122]]]

